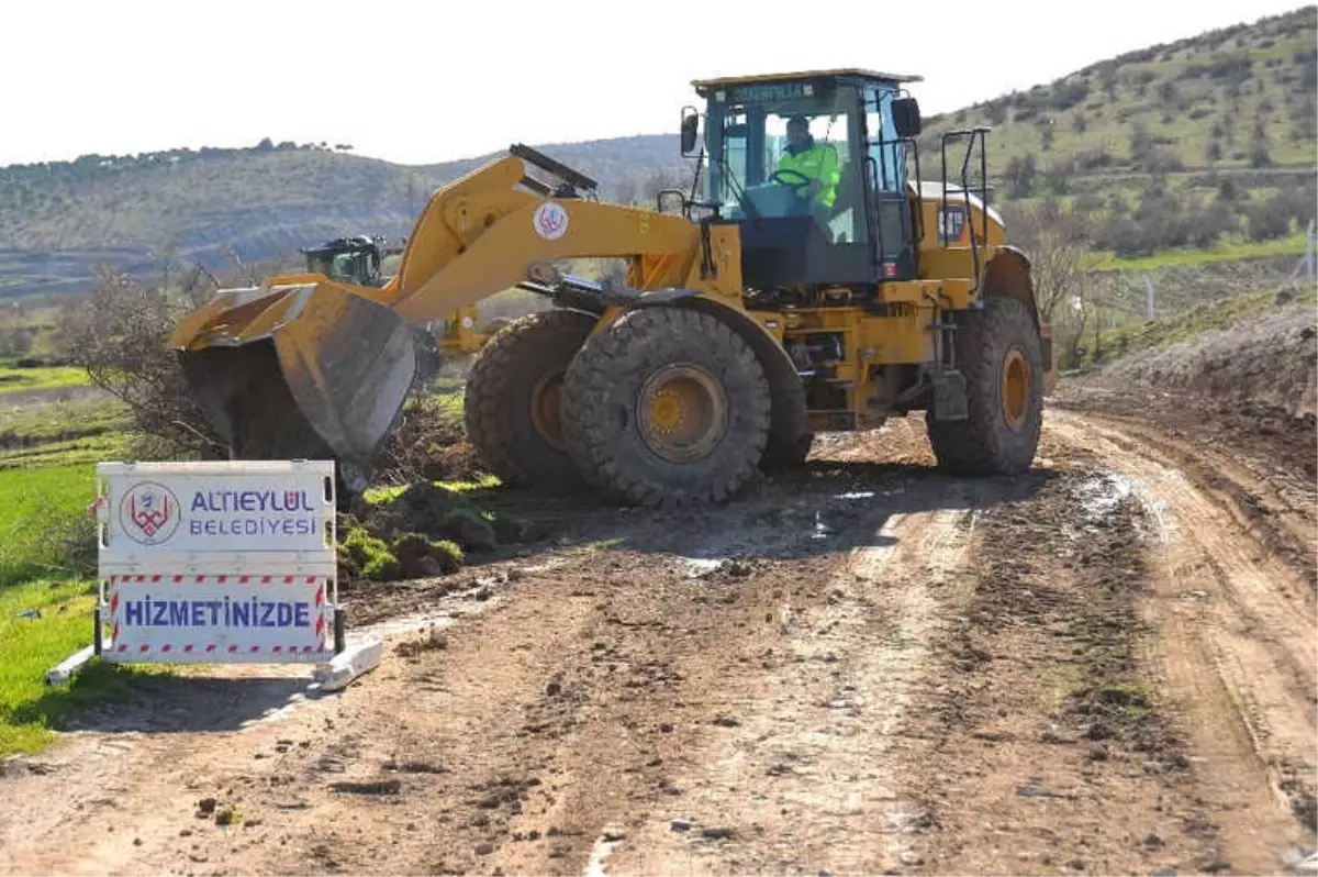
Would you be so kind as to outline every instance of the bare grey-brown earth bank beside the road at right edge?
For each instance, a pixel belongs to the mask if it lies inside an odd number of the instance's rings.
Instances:
[[[1318,423],[1318,306],[1285,307],[1143,351],[1114,363],[1101,377],[1188,389]]]

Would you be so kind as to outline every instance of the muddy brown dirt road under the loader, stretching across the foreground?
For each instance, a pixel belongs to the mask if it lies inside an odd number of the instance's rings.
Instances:
[[[11,762],[0,870],[1305,873],[1311,438],[1193,425],[1073,394],[1021,479],[911,419],[726,508],[540,506],[360,607],[344,692],[144,683]]]

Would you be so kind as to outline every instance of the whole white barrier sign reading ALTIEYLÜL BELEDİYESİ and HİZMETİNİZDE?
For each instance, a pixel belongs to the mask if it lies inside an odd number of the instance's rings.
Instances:
[[[103,659],[320,662],[343,648],[333,462],[96,473]]]

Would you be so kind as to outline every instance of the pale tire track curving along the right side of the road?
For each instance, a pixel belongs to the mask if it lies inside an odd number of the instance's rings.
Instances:
[[[1318,837],[1318,597],[1306,574],[1248,531],[1230,495],[1186,477],[1202,460],[1068,413],[1046,429],[1127,479],[1149,510],[1148,649],[1228,814],[1232,855],[1269,873]]]

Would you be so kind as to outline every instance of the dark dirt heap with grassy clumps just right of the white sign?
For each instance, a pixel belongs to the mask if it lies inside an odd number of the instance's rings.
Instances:
[[[424,480],[340,516],[339,533],[339,580],[349,586],[448,575],[472,554],[489,555],[535,535],[522,520]]]

